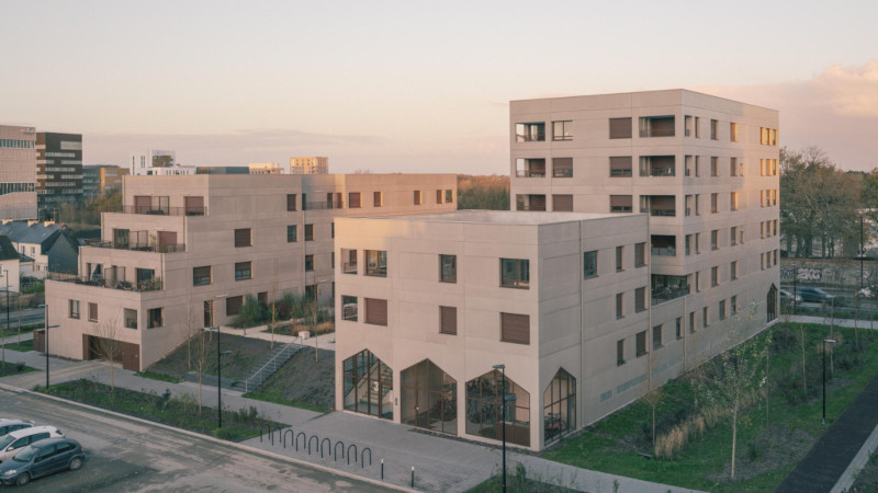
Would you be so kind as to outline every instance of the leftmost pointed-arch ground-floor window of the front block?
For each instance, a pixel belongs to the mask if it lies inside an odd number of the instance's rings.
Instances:
[[[393,370],[369,349],[345,359],[345,409],[393,420]]]

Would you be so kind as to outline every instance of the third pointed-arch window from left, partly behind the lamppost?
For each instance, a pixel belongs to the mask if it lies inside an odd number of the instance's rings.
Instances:
[[[506,406],[502,406],[504,387],[506,395],[515,395]],[[530,393],[503,374],[491,370],[466,382],[466,433],[496,440],[503,437],[506,426],[506,440],[530,446]]]

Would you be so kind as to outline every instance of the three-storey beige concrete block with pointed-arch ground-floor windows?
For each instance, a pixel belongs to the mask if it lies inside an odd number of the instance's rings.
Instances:
[[[498,440],[503,364],[510,443],[541,449],[609,412],[600,393],[633,387],[648,359],[646,227],[485,210],[338,220],[351,262],[336,273],[336,409]]]

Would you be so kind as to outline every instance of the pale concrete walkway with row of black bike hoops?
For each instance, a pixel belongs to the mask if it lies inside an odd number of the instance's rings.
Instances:
[[[248,330],[248,336],[249,334]],[[270,336],[270,334],[268,334]],[[323,347],[323,344],[320,344]],[[44,355],[36,352],[18,353],[8,352],[8,360],[21,362],[31,367],[44,370]],[[50,358],[52,383],[74,380],[79,378],[94,379],[110,382],[110,369],[104,362],[68,362]],[[114,367],[113,380],[117,387],[133,390],[155,391],[162,393],[167,390],[175,395],[189,394],[198,399],[199,386],[192,382],[169,383],[135,376],[132,371]],[[37,371],[0,379],[3,383],[19,387],[33,388],[45,383],[45,372]],[[204,405],[216,404],[216,389],[203,387],[201,389]],[[408,486],[412,479],[412,468],[415,468],[415,489],[430,492],[459,492],[465,491],[485,481],[492,472],[499,469],[500,450],[495,447],[483,446],[470,442],[462,442],[449,437],[437,437],[416,431],[409,426],[394,424],[384,420],[371,419],[360,414],[345,412],[330,412],[326,414],[306,411],[297,408],[278,405],[268,402],[243,398],[240,392],[223,390],[223,408],[238,410],[255,406],[263,417],[292,425],[292,432],[274,432],[273,443],[268,436],[252,438],[245,444],[271,450],[272,452],[294,457],[313,463],[320,463],[334,469],[344,470],[359,475],[380,479],[381,461],[384,461],[384,481]],[[215,409],[215,408],[214,408]],[[299,449],[293,445],[291,436],[300,436]],[[286,440],[282,439],[286,435]],[[317,438],[312,438],[312,437]],[[311,442],[308,452],[304,438]],[[345,456],[326,454],[324,447],[320,457],[319,445],[326,443],[333,447],[342,448],[336,444],[344,443]],[[285,446],[284,446],[285,445]],[[356,454],[351,445],[356,446]],[[369,452],[371,452],[371,465]],[[334,450],[335,452],[335,450]],[[350,457],[350,463],[348,463]],[[356,457],[356,460],[354,460]],[[364,459],[365,463],[360,461]],[[690,491],[665,484],[651,483],[631,478],[608,474],[604,472],[579,469],[558,462],[552,462],[527,454],[509,451],[507,454],[508,467],[514,470],[515,463],[522,463],[530,477],[540,478],[548,482],[560,483],[578,491],[599,492],[684,492]]]

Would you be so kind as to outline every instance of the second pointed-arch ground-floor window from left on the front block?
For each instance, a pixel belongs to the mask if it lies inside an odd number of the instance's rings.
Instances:
[[[402,422],[420,428],[458,434],[458,381],[429,359],[399,376]]]

